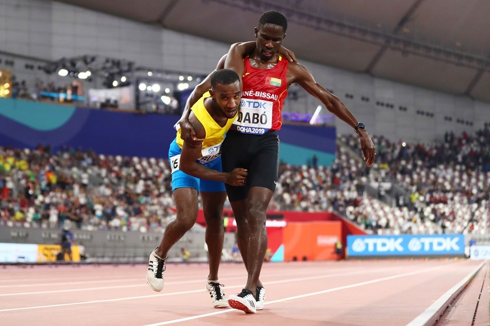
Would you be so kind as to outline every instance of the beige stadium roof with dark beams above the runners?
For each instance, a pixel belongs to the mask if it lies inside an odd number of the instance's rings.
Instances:
[[[487,0],[63,2],[227,43],[253,40],[278,10],[300,59],[490,102]]]

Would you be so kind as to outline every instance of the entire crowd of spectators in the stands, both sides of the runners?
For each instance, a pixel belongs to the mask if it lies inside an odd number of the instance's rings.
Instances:
[[[395,144],[375,137],[367,169],[357,139],[340,137],[330,167],[281,162],[269,209],[335,211],[382,233],[485,233],[490,224],[490,132],[448,133],[436,144]],[[352,149],[350,149],[352,147]],[[175,217],[166,159],[97,155],[65,148],[52,154],[0,147],[0,226],[87,230],[159,230]],[[393,205],[368,188],[396,184]],[[391,194],[393,195],[393,194]],[[386,194],[390,196],[389,191]],[[229,206],[229,203],[226,203]]]

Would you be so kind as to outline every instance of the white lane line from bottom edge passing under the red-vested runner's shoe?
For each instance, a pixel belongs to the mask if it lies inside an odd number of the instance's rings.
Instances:
[[[373,283],[378,283],[378,282],[383,282],[383,281],[388,281],[388,280],[394,280],[394,279],[398,279],[398,278],[405,277],[405,276],[411,276],[411,275],[426,273],[428,271],[432,271],[432,270],[439,269],[442,267],[444,267],[444,266],[435,266],[435,267],[426,268],[426,269],[422,269],[422,270],[411,271],[409,273],[403,273],[403,274],[398,274],[398,275],[394,275],[394,276],[383,277],[380,279],[374,279],[371,281],[365,281],[365,282],[359,282],[359,283],[355,283],[355,284],[351,284],[351,285],[334,287],[334,288],[323,290],[323,291],[317,291],[317,292],[311,292],[311,293],[306,293],[306,294],[301,294],[301,295],[285,297],[285,298],[282,298],[279,300],[266,302],[266,303],[264,303],[264,305],[271,305],[271,304],[275,304],[278,302],[296,300],[296,299],[300,299],[300,298],[304,298],[304,297],[308,297],[308,296],[312,296],[312,295],[325,294],[325,293],[329,293],[329,292],[350,289],[350,288],[354,288],[354,287],[358,287],[358,286],[362,286],[362,285],[368,285],[368,284],[373,284]],[[212,312],[212,313],[208,313],[208,314],[195,315],[195,316],[190,316],[190,317],[185,317],[185,318],[167,320],[167,321],[157,322],[157,323],[153,323],[153,324],[146,324],[143,326],[168,325],[168,324],[173,324],[173,323],[177,323],[177,322],[188,321],[188,320],[192,320],[192,319],[198,319],[198,318],[204,318],[204,317],[208,317],[208,316],[223,314],[223,313],[227,313],[230,311],[235,311],[235,309],[227,309],[225,311],[218,311],[218,312]]]

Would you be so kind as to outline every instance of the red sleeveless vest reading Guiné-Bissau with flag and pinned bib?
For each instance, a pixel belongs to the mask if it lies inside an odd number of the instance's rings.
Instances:
[[[245,69],[240,111],[232,129],[250,134],[264,134],[269,130],[281,129],[289,62],[279,57],[275,67],[256,69],[250,65],[248,57],[243,61]]]

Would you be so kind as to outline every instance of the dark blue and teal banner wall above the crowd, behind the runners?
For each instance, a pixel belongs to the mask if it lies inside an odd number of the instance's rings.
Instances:
[[[167,158],[177,116],[112,112],[84,107],[0,98],[0,146],[50,145],[97,154]],[[282,125],[279,159],[292,165],[330,166],[335,127]]]

